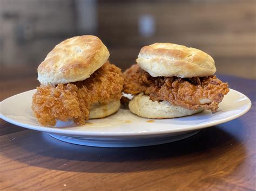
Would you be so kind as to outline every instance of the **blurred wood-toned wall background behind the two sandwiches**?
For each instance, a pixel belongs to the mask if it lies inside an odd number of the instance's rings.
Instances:
[[[36,79],[56,44],[83,34],[102,39],[123,70],[144,45],[168,42],[212,55],[218,74],[256,79],[255,9],[255,0],[0,0],[0,80]]]

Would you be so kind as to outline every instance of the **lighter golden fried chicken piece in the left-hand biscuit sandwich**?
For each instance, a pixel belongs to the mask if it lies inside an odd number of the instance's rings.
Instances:
[[[83,125],[91,104],[120,100],[123,83],[121,70],[107,61],[84,81],[37,87],[32,111],[42,125],[55,126],[57,120]]]

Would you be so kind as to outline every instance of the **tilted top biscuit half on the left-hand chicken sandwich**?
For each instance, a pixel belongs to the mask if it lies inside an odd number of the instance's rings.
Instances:
[[[44,85],[82,81],[100,68],[109,51],[95,36],[79,36],[55,46],[38,66],[38,80]]]

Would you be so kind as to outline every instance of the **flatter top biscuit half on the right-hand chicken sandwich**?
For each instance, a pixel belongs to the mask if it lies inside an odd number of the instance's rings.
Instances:
[[[171,43],[144,46],[136,61],[153,77],[202,77],[216,72],[210,55],[196,48]]]

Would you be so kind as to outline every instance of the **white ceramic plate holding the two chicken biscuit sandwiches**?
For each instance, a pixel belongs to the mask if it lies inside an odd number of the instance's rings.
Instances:
[[[248,97],[230,89],[214,114],[203,111],[192,116],[151,120],[120,109],[114,115],[89,120],[83,126],[58,122],[55,128],[49,128],[38,124],[32,115],[31,101],[35,91],[26,91],[2,101],[0,117],[24,128],[48,132],[65,142],[89,146],[134,147],[170,143],[195,135],[200,129],[231,121],[251,108]]]

